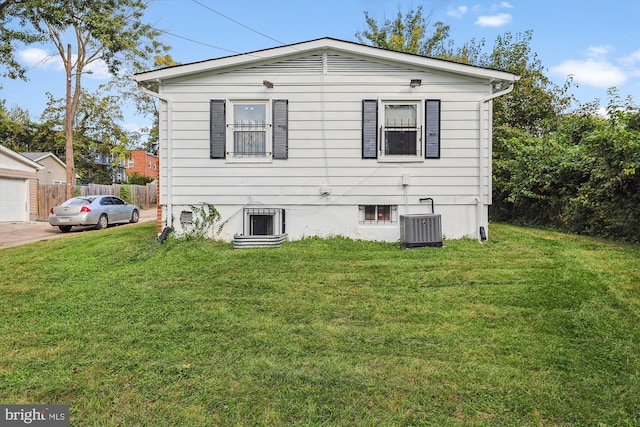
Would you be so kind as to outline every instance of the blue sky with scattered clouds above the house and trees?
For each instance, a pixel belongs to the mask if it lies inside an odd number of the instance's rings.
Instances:
[[[547,75],[562,85],[573,75],[572,93],[580,102],[599,98],[607,104],[607,89],[616,86],[624,98],[640,104],[640,1],[637,0],[155,0],[147,20],[166,31],[163,41],[180,63],[267,49],[320,37],[357,41],[365,27],[364,11],[378,22],[423,6],[430,21],[451,26],[451,38],[462,44],[472,38],[533,31],[531,47]],[[173,35],[170,35],[171,33]],[[70,38],[69,42],[73,40]],[[62,98],[64,70],[53,46],[20,49],[29,68],[29,82],[2,79],[0,98],[37,118],[46,105],[45,93]],[[104,67],[83,76],[92,90],[108,78]],[[126,109],[125,126],[135,129],[150,120]]]

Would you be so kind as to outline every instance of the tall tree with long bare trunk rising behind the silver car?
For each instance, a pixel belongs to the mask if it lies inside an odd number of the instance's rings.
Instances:
[[[67,176],[75,176],[74,142],[70,133],[82,92],[83,72],[91,64],[103,61],[109,72],[116,75],[123,66],[135,69],[154,55],[164,52],[166,47],[157,41],[159,32],[141,22],[147,6],[144,0],[13,2],[13,7],[5,10],[4,22],[29,24],[39,38],[53,43],[64,64],[67,84],[63,122],[67,136],[65,159]],[[72,42],[67,40],[69,35],[73,35]],[[68,195],[70,190],[71,187],[68,188]]]

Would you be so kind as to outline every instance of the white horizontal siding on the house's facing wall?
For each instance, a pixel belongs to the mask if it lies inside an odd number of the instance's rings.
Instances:
[[[421,79],[422,85],[410,88],[409,82],[415,78]],[[265,79],[274,87],[266,88],[262,84]],[[476,226],[457,215],[475,212],[480,188],[486,200],[490,197],[490,180],[480,182],[479,170],[482,164],[483,176],[489,172],[490,141],[483,143],[481,153],[478,143],[481,126],[486,129],[490,124],[486,114],[490,103],[480,105],[480,100],[490,93],[490,86],[479,78],[329,53],[325,59],[322,54],[314,54],[190,79],[166,80],[162,93],[172,99],[172,179],[171,188],[167,188],[167,179],[161,177],[161,201],[166,201],[170,191],[177,212],[174,217],[185,206],[214,204],[225,219],[231,218],[224,228],[226,238],[244,231],[242,215],[237,212],[245,206],[286,208],[287,222],[291,224],[288,233],[299,238],[308,231],[297,230],[294,225],[310,221],[309,218],[331,226],[344,217],[353,217],[349,224],[357,228],[359,215],[350,210],[354,206],[392,205],[397,206],[398,214],[423,212],[425,207],[419,202],[423,197],[433,197],[436,210],[452,212],[453,216],[443,215],[445,234],[471,235]],[[274,100],[286,100],[286,127],[280,128],[282,135],[286,131],[286,137],[281,135],[278,139],[284,153],[281,158],[286,161],[228,161],[227,152],[233,151],[229,150],[233,139],[226,129],[231,121],[229,102],[243,99],[268,102],[272,111],[267,118],[272,125]],[[376,111],[384,101],[419,103],[417,121],[422,136],[417,157],[421,161],[380,162],[367,158],[377,156],[363,144],[363,117],[367,114],[367,101],[363,100],[371,101],[370,106]],[[437,155],[429,148],[428,140],[428,105],[434,100],[438,100],[439,107]],[[216,113],[215,120],[214,102],[226,105],[226,110]],[[482,115],[480,108],[485,111]],[[375,119],[374,113],[369,114],[368,120],[377,121],[379,135],[382,113],[375,113]],[[161,112],[161,161],[169,156],[166,117],[167,112]],[[480,123],[481,117],[484,123]],[[216,133],[216,120],[224,124],[224,136]],[[278,158],[277,130],[274,125],[268,132],[273,159]],[[488,132],[483,132],[488,138]],[[482,163],[479,155],[484,156]],[[425,157],[437,160],[426,161]],[[403,174],[411,177],[406,187],[402,184]],[[328,188],[330,194],[322,195],[323,188]],[[348,225],[344,227],[345,234],[357,236],[346,228]]]

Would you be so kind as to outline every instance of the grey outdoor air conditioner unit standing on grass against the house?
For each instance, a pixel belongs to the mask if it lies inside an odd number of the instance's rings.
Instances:
[[[400,240],[405,248],[442,247],[442,218],[433,213],[433,199],[428,200],[432,213],[400,215]]]

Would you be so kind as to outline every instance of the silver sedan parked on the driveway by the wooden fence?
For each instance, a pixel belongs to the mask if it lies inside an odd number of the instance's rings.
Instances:
[[[96,229],[111,224],[138,222],[140,208],[111,195],[74,197],[49,210],[49,224],[60,231],[71,231],[74,225],[95,225]]]

